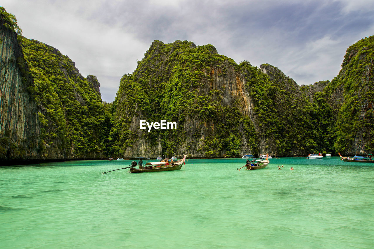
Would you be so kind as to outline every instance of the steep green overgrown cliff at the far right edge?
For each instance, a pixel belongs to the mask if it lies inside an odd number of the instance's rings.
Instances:
[[[340,91],[335,106],[335,149],[341,152],[374,150],[374,36],[347,49],[341,71],[325,88],[328,96]]]

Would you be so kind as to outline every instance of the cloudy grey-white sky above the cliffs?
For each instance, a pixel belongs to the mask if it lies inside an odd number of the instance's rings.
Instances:
[[[299,85],[331,80],[346,49],[374,35],[373,0],[2,0],[23,35],[95,75],[112,102],[153,40],[212,44],[236,63],[269,63]]]

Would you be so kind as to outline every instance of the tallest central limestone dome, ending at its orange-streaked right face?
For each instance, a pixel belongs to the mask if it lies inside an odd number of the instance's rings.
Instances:
[[[196,67],[199,53],[211,60],[208,66]],[[222,157],[256,149],[248,141],[253,105],[234,65],[212,45],[154,41],[137,70],[122,78],[113,103],[115,154]],[[148,133],[139,129],[140,120],[177,122],[177,130]]]

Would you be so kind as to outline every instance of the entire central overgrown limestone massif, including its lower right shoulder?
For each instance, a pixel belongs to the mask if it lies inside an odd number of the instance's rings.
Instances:
[[[274,66],[236,64],[209,44],[154,41],[121,79],[111,139],[114,154],[126,158],[305,155],[325,146],[313,141],[320,132],[313,113],[296,82]],[[177,122],[177,130],[148,133],[140,120]]]

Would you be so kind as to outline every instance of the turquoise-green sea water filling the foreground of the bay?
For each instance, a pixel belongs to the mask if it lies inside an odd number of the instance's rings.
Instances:
[[[194,159],[102,174],[130,162],[0,168],[0,248],[374,248],[374,165]]]

